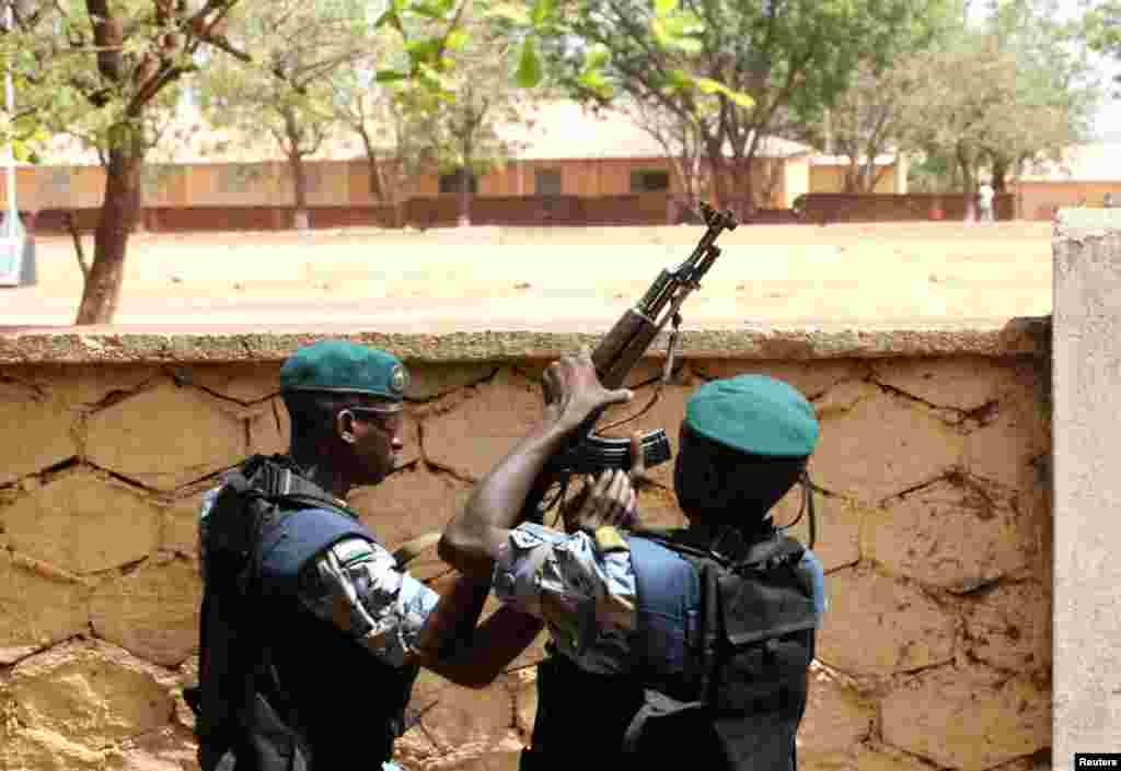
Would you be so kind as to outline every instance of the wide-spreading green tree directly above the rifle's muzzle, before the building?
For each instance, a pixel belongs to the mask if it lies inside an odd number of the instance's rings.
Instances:
[[[589,0],[553,52],[577,96],[610,101],[582,68],[688,123],[716,198],[758,204],[756,160],[788,117],[815,120],[858,63],[882,65],[936,18],[937,0]],[[655,13],[660,12],[660,18]],[[666,32],[679,37],[667,40]]]

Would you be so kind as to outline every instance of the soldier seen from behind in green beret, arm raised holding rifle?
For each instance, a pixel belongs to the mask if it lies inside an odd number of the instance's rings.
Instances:
[[[705,383],[688,400],[674,472],[688,527],[639,529],[631,480],[608,473],[558,532],[521,521],[527,493],[546,458],[617,392],[602,388],[586,350],[550,365],[545,387],[540,425],[441,542],[447,561],[492,576],[506,607],[550,632],[521,768],[583,768],[591,756],[595,768],[680,759],[793,771],[825,585],[821,563],[770,510],[799,481],[810,500],[813,407],[763,375]]]

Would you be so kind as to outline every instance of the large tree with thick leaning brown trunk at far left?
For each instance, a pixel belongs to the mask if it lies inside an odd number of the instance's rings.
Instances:
[[[239,58],[222,24],[239,0],[59,0],[16,3],[0,58],[21,82],[17,112],[49,131],[83,133],[105,158],[105,192],[76,324],[109,323],[120,298],[129,233],[154,115],[174,109],[176,86],[217,48]]]

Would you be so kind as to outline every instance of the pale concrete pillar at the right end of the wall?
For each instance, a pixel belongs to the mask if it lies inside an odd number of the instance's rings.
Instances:
[[[1121,211],[1062,210],[1054,256],[1054,754],[1121,751]]]

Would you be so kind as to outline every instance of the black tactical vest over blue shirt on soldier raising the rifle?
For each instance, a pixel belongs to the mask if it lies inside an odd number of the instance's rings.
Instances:
[[[634,667],[592,675],[552,651],[524,771],[794,771],[817,616],[803,547],[775,535],[734,558],[684,532],[630,538]]]

